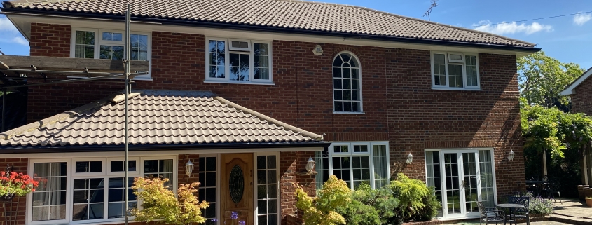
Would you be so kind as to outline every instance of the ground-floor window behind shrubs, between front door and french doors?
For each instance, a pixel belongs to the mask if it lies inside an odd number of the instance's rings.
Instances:
[[[315,152],[317,190],[335,175],[356,189],[369,184],[373,189],[385,186],[390,178],[387,142],[333,143],[329,151]]]

